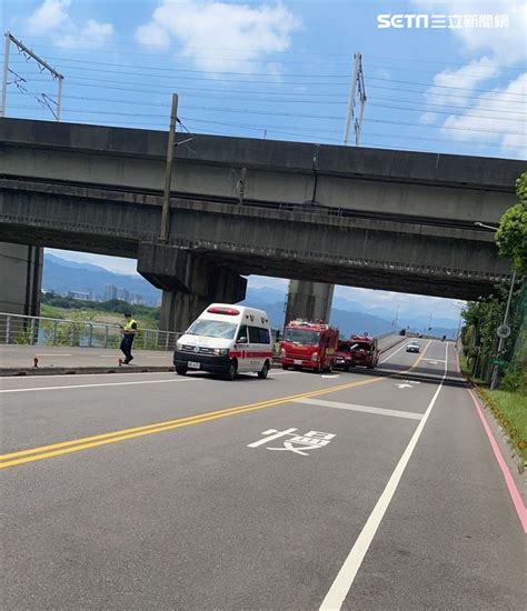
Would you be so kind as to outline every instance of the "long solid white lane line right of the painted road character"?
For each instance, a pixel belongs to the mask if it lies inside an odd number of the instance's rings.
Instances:
[[[377,532],[377,529],[379,528],[379,524],[386,513],[386,510],[388,509],[388,505],[390,504],[390,501],[394,498],[397,487],[399,485],[399,482],[400,482],[400,479],[402,478],[406,465],[408,464],[408,461],[411,458],[411,454],[417,445],[417,442],[419,441],[419,438],[422,433],[422,429],[427,423],[428,417],[430,415],[430,412],[434,405],[436,404],[437,397],[439,395],[439,392],[447,377],[447,365],[448,365],[448,344],[446,345],[446,350],[445,350],[445,372],[443,374],[441,382],[437,387],[437,390],[434,393],[434,397],[431,398],[431,401],[428,404],[428,408],[424,413],[421,421],[419,422],[414,434],[411,435],[410,442],[406,447],[406,450],[402,452],[402,455],[400,457],[399,462],[395,468],[395,471],[391,473],[391,477],[388,480],[388,483],[386,484],[386,488],[382,491],[382,494],[379,497],[379,500],[377,501],[377,504],[375,505],[374,511],[370,513],[366,524],[364,525],[360,534],[357,538],[357,541],[351,548],[351,551],[349,552],[348,558],[346,558],[340,571],[338,572],[337,577],[335,578],[335,581],[331,584],[331,588],[326,594],[326,598],[324,599],[322,604],[320,605],[320,611],[338,611],[341,608],[346,597],[348,595],[349,589],[351,588],[355,581],[355,578],[357,575],[357,572],[360,569],[360,565],[362,564],[362,560],[371,544],[371,541],[374,540],[375,533]]]

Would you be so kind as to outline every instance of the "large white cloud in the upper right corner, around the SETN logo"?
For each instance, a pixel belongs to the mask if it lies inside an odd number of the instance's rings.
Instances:
[[[505,67],[520,66],[527,59],[527,6],[507,0],[412,0],[419,12],[441,14],[508,16],[506,28],[455,28],[448,32],[461,42],[461,51],[468,54],[485,53],[457,69],[447,68],[434,77],[434,86],[425,93],[429,104],[457,107],[458,114],[446,120],[440,114],[432,118],[427,109],[421,123],[437,123],[444,133],[457,141],[475,144],[499,146],[504,157],[527,157],[525,127],[526,74],[515,76],[508,84],[485,89],[485,83],[496,77],[507,80]],[[515,132],[515,133],[507,133]],[[477,151],[475,151],[477,153]]]

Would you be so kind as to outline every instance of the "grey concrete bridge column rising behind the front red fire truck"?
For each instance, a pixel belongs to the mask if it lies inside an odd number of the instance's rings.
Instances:
[[[334,284],[291,280],[286,309],[286,324],[297,318],[329,322]]]

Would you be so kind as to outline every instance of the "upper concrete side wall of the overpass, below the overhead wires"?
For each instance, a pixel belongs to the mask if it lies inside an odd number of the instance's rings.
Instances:
[[[3,119],[0,140],[3,174],[162,189],[163,132]],[[176,149],[172,190],[235,197],[241,168],[249,200],[495,223],[515,203],[524,164],[197,134]]]

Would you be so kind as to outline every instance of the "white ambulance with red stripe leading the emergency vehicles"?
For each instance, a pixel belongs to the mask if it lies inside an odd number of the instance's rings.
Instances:
[[[173,352],[180,375],[209,371],[233,380],[237,373],[267,378],[272,362],[272,338],[264,310],[212,303],[181,335]]]

